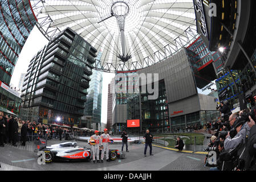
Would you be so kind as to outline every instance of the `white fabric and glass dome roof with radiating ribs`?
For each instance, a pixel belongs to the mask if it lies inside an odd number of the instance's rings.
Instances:
[[[197,36],[193,0],[31,3],[38,13],[38,27],[47,39],[66,27],[72,28],[97,49],[95,68],[108,72],[148,67],[176,53]],[[121,55],[127,59],[120,59]]]

